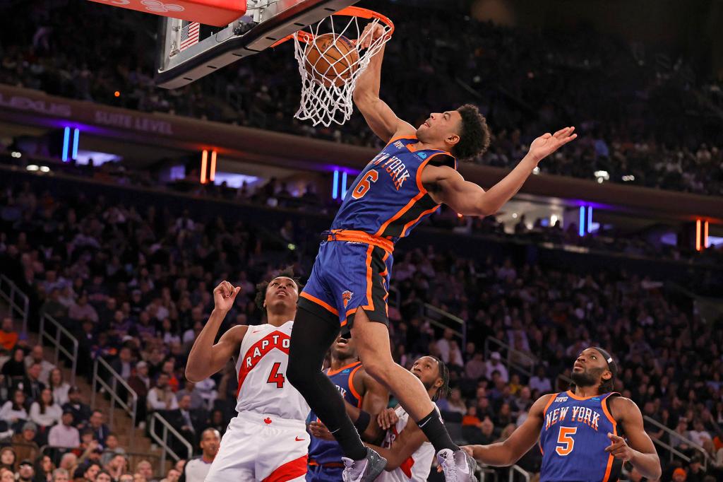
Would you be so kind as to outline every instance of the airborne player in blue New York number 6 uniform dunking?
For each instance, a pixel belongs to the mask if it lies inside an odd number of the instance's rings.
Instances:
[[[365,30],[361,41],[381,35]],[[395,395],[437,450],[447,481],[473,481],[475,462],[450,439],[435,405],[412,373],[391,356],[387,296],[395,242],[447,204],[457,213],[486,216],[518,192],[542,158],[576,138],[573,127],[545,134],[504,179],[488,191],[457,172],[457,159],[489,145],[487,123],[475,106],[429,115],[412,127],[379,98],[384,48],[360,75],[356,106],[386,147],[348,190],[322,240],[309,282],[299,298],[291,335],[288,380],[341,444],[343,480],[373,481],[385,460],[362,444],[344,402],[320,366],[340,329],[351,330],[367,373]]]

